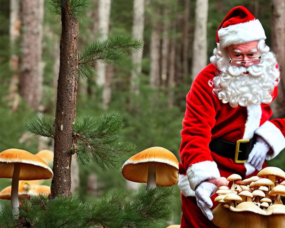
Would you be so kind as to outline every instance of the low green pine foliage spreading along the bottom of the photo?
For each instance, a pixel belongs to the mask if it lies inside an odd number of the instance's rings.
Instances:
[[[69,228],[153,228],[165,227],[163,221],[172,218],[169,207],[174,188],[140,190],[129,199],[121,192],[109,192],[105,197],[84,203],[78,197],[32,197],[20,207],[19,220],[11,209],[0,210],[1,227]]]

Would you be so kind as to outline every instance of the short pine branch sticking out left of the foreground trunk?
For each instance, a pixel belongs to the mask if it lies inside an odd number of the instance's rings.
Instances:
[[[54,122],[44,115],[37,116],[32,121],[25,123],[25,128],[35,135],[54,138]]]

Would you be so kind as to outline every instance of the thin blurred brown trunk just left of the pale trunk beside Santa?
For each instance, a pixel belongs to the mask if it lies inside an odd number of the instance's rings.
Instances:
[[[189,17],[190,17],[190,0],[184,0],[184,19],[182,31],[182,71],[183,81],[186,81],[188,76],[188,55],[189,55]]]

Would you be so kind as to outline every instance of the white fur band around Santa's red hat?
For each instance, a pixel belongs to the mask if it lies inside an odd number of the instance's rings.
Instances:
[[[220,28],[218,36],[221,48],[225,48],[231,44],[243,44],[266,39],[264,29],[257,19]]]

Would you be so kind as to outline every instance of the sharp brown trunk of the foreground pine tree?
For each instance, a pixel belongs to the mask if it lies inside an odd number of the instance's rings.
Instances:
[[[69,1],[66,1],[68,4]],[[79,23],[62,9],[61,39],[60,39],[60,68],[57,87],[54,135],[54,163],[51,194],[52,197],[71,195],[71,157],[72,125],[76,116],[76,97],[78,86],[78,55],[77,42]]]

